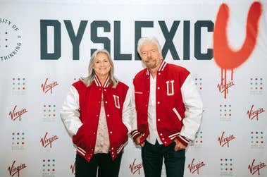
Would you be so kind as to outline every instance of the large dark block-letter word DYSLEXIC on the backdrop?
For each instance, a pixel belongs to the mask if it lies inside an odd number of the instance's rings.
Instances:
[[[88,20],[81,20],[80,25],[77,29],[73,29],[73,23],[71,20],[63,20],[63,24],[68,32],[68,37],[64,37],[66,39],[70,39],[70,42],[73,46],[73,60],[80,60],[80,44],[85,34],[85,30],[87,28]],[[114,60],[132,60],[134,57],[135,60],[139,60],[139,56],[137,54],[137,42],[140,37],[143,37],[142,29],[144,28],[154,28],[154,25],[159,25],[161,28],[161,32],[163,37],[165,38],[165,42],[162,48],[163,59],[166,57],[168,51],[172,55],[174,60],[180,60],[180,56],[178,54],[178,49],[182,49],[182,59],[190,60],[190,42],[194,41],[194,58],[197,60],[211,60],[213,58],[213,49],[209,47],[205,47],[201,44],[201,35],[204,35],[205,32],[213,32],[214,24],[211,20],[197,20],[194,23],[194,40],[190,39],[190,33],[192,30],[190,29],[190,25],[192,21],[190,20],[174,20],[172,25],[168,27],[166,22],[163,20],[159,21],[135,21],[135,31],[133,36],[135,37],[135,54],[122,54],[121,52],[121,32],[120,32],[120,23],[121,21],[113,21],[113,29],[111,29],[111,22],[108,20],[94,20],[90,23],[90,38],[94,44],[103,44],[104,48],[111,52],[111,44],[113,43],[113,59]],[[182,23],[181,28],[178,29],[180,23]],[[41,60],[58,60],[61,58],[61,44],[62,44],[62,35],[65,34],[61,32],[62,23],[59,20],[40,20],[40,46],[41,46]],[[50,38],[48,37],[48,28],[53,29],[54,33],[54,51],[49,52],[48,41]],[[108,36],[110,36],[113,32],[113,39],[111,37],[103,37],[99,36],[99,29],[101,31],[104,30]],[[132,29],[129,29],[132,30]],[[177,46],[174,44],[173,39],[177,32],[182,33],[182,46]],[[212,34],[211,34],[212,35]],[[124,38],[124,37],[123,37]],[[130,37],[131,38],[131,37]],[[112,41],[113,40],[113,41]],[[50,43],[49,43],[50,44]],[[52,47],[53,48],[53,47]],[[96,50],[91,48],[91,54]]]

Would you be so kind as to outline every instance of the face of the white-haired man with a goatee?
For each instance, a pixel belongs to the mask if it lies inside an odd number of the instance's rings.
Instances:
[[[144,65],[148,69],[159,68],[162,57],[156,44],[152,42],[144,43],[140,49],[140,54]]]

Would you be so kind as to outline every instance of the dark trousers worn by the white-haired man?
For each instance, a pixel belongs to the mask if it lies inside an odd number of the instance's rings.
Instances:
[[[144,167],[144,175],[146,177],[160,177],[164,157],[167,177],[183,177],[185,169],[185,149],[174,150],[175,142],[167,147],[159,145],[156,141],[155,145],[151,145],[145,141],[142,147],[142,161]]]

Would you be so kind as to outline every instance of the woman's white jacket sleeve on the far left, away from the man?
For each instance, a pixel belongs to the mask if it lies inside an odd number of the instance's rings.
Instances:
[[[75,87],[71,86],[66,101],[63,103],[61,112],[61,120],[70,136],[76,135],[77,130],[82,126],[80,121],[80,104],[79,94]]]

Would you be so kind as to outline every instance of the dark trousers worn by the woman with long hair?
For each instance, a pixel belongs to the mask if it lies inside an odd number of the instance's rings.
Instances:
[[[91,161],[87,162],[76,154],[75,177],[117,177],[120,171],[120,160],[123,153],[118,154],[112,161],[111,154],[94,154]]]

